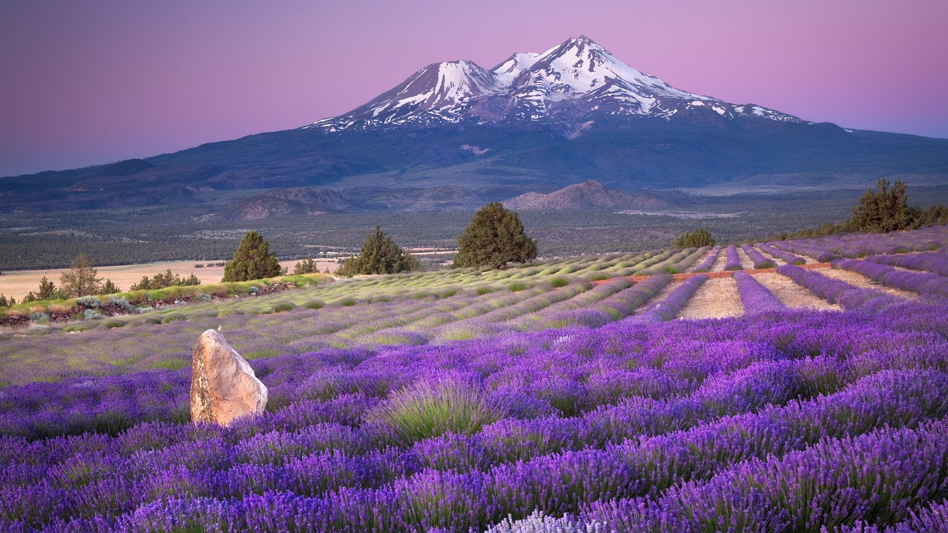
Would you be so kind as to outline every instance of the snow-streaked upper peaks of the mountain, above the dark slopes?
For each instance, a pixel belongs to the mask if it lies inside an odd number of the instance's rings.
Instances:
[[[492,69],[470,61],[429,64],[373,101],[306,128],[334,132],[405,124],[542,122],[567,135],[604,119],[675,117],[802,120],[734,104],[640,72],[581,35],[543,53],[516,53]]]

